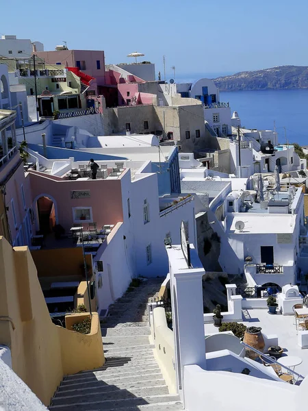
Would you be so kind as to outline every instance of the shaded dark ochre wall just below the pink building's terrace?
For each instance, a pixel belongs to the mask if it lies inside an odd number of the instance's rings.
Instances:
[[[32,250],[31,256],[38,270],[38,277],[57,277],[81,275],[84,277],[84,257],[81,247],[62,249]],[[92,256],[86,255],[90,266],[89,278],[92,276]]]

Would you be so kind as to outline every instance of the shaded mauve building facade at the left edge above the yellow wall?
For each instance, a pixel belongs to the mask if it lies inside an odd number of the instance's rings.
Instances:
[[[14,246],[31,245],[31,188],[16,147],[15,119],[16,112],[0,110],[0,236]]]

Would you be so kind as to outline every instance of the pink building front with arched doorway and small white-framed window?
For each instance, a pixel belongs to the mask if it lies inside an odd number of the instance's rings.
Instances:
[[[116,178],[96,180],[70,180],[31,171],[36,230],[47,234],[55,224],[60,224],[69,233],[74,224],[88,229],[89,223],[97,223],[101,228],[123,221],[121,184],[127,171]]]

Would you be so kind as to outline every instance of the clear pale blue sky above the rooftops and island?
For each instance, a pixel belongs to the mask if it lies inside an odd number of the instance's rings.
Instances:
[[[4,0],[5,1],[5,0]],[[168,77],[220,75],[283,64],[306,65],[308,1],[5,1],[0,33],[69,49],[103,49],[106,63],[139,51]],[[4,15],[4,13],[3,13]]]

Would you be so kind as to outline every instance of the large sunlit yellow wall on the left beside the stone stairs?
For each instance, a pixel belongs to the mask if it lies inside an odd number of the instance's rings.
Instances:
[[[29,250],[12,249],[3,237],[0,320],[0,344],[10,347],[14,372],[45,405],[63,375],[98,368],[105,362],[98,314],[93,314],[88,335],[54,325]]]

